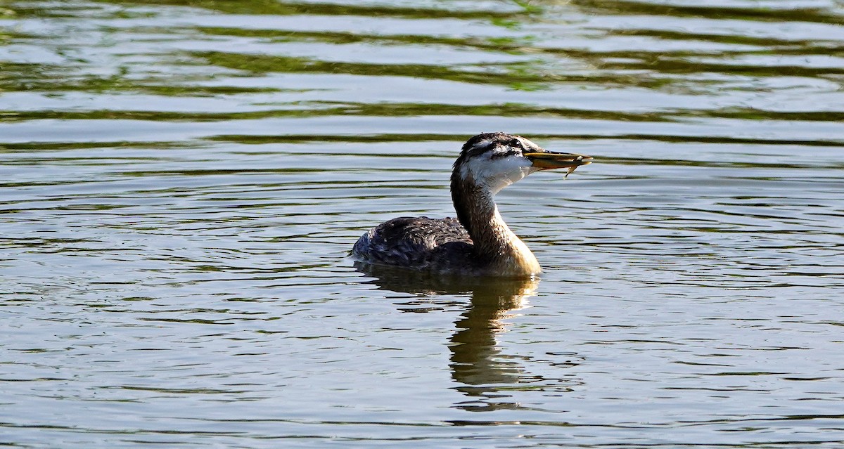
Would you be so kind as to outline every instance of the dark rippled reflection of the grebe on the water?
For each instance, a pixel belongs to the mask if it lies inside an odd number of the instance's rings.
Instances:
[[[525,381],[524,370],[519,362],[500,354],[496,336],[506,332],[503,320],[526,307],[527,299],[536,295],[538,279],[447,278],[387,266],[355,266],[374,277],[371,282],[381,289],[422,295],[470,293],[468,306],[461,303],[465,310],[455,322],[457,331],[449,344],[452,378],[461,384],[457,390],[468,397],[457,407],[471,411],[519,408],[502,398],[510,396],[504,392],[507,386]],[[420,302],[415,306],[425,305]]]

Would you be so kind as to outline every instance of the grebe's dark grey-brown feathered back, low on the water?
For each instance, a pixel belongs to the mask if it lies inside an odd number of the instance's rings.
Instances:
[[[472,239],[457,219],[400,217],[372,228],[354,244],[361,262],[416,269],[448,269],[442,265],[471,259]]]

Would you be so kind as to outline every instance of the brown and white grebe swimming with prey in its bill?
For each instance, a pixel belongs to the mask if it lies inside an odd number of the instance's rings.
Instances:
[[[495,193],[534,171],[568,168],[571,173],[591,160],[547,151],[521,136],[479,134],[463,144],[454,162],[457,219],[391,219],[361,235],[352,257],[434,273],[533,278],[542,273],[539,262],[504,223]]]

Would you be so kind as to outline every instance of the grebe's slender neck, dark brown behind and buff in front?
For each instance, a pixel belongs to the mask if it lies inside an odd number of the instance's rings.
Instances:
[[[498,213],[495,192],[472,180],[452,180],[452,200],[457,219],[468,230],[475,257],[490,274],[529,278],[541,273],[539,262],[527,245],[510,230]]]

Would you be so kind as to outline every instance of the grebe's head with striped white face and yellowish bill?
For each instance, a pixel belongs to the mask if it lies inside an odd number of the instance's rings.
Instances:
[[[452,192],[455,187],[471,182],[494,195],[534,171],[567,168],[571,173],[591,162],[591,156],[548,151],[521,136],[478,134],[463,144],[454,163]]]

